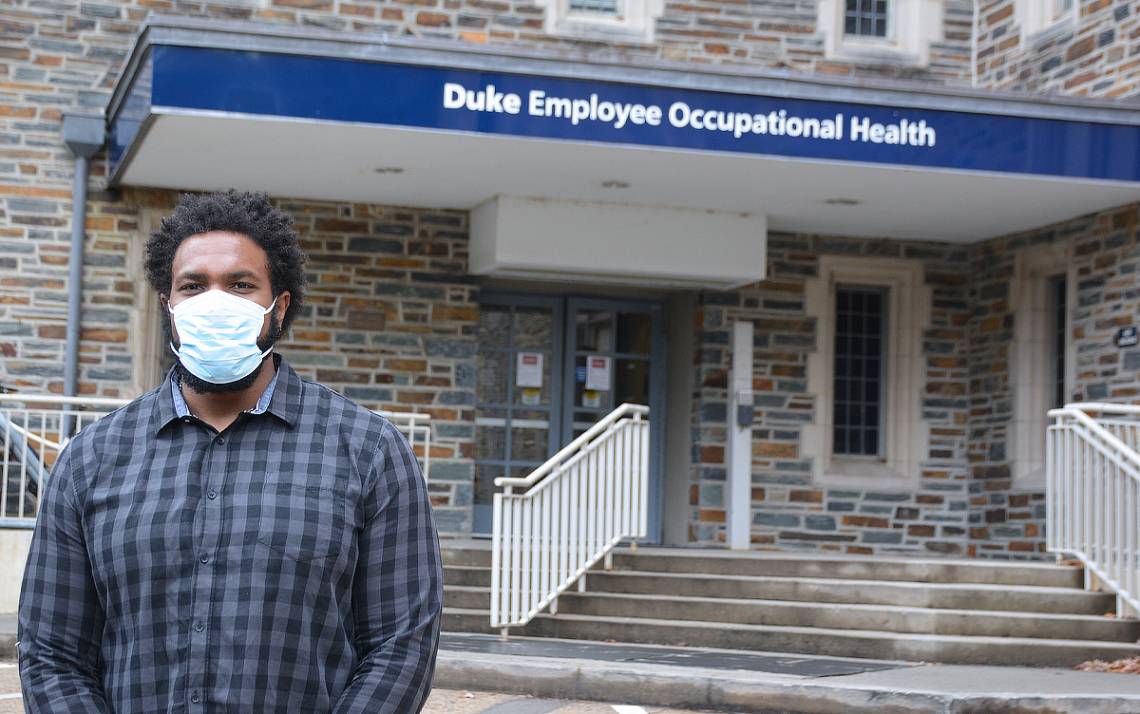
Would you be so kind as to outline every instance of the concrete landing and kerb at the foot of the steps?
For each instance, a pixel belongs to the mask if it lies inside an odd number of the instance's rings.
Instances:
[[[1140,676],[1127,674],[455,633],[435,685],[749,713],[1140,713]]]

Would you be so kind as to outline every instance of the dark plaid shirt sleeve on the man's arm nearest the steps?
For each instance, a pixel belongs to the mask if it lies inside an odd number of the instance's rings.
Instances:
[[[352,590],[359,664],[335,714],[420,712],[435,670],[443,576],[427,485],[391,424],[377,448]]]

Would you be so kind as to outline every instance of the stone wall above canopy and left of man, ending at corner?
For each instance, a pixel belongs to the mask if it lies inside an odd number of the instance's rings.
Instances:
[[[969,0],[947,0],[944,38],[920,70],[823,57],[815,0],[741,5],[666,2],[652,44],[545,35],[543,7],[529,0],[16,0],[0,18],[0,386],[58,389],[66,305],[72,159],[60,140],[65,109],[101,109],[139,24],[150,11],[319,26],[361,34],[441,36],[471,42],[573,48],[700,64],[731,62],[803,72],[968,81]],[[135,209],[101,194],[106,163],[92,162],[88,228],[82,393],[122,392],[131,371],[132,287],[124,237]],[[98,302],[96,302],[98,301]]]

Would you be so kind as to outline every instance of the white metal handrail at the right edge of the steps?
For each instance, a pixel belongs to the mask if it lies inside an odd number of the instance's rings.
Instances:
[[[1093,419],[1089,413],[1110,415]],[[1140,408],[1069,404],[1049,412],[1045,541],[1080,560],[1116,594],[1118,616],[1140,616]]]

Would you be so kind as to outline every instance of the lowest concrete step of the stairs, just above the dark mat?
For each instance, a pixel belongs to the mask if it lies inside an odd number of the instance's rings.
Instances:
[[[456,614],[456,615],[478,615],[490,617],[490,610],[473,610],[473,609],[461,609],[461,608],[443,608],[445,614]],[[1050,638],[1012,638],[1012,636],[991,636],[991,635],[962,635],[962,634],[927,634],[927,633],[914,633],[914,632],[883,632],[878,630],[838,630],[831,627],[803,627],[795,625],[748,625],[740,623],[718,623],[714,620],[674,620],[674,619],[657,619],[651,617],[611,617],[604,615],[573,615],[560,612],[559,615],[540,614],[536,616],[538,618],[547,619],[562,619],[565,622],[600,622],[600,623],[637,623],[640,625],[649,625],[656,627],[700,627],[703,630],[731,630],[731,631],[748,631],[748,632],[773,632],[773,633],[784,633],[784,634],[803,634],[803,635],[825,635],[836,638],[847,638],[847,639],[874,639],[874,640],[909,640],[913,642],[959,642],[963,644],[970,643],[985,643],[985,644],[1007,644],[1007,646],[1024,646],[1024,647],[1040,647],[1042,644],[1052,644],[1057,647],[1100,647],[1117,649],[1122,651],[1134,651],[1140,654],[1140,644],[1129,643],[1129,642],[1112,642],[1106,640],[1064,640],[1064,639],[1050,639]]]

